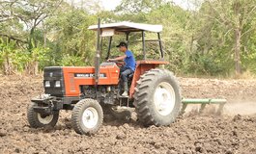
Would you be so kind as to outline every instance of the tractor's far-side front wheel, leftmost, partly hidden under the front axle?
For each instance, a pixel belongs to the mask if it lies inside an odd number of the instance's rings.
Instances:
[[[34,102],[28,106],[27,110],[27,119],[32,128],[41,128],[41,127],[54,127],[59,118],[59,111],[55,111],[52,115],[43,115],[36,113],[34,107],[38,105]]]

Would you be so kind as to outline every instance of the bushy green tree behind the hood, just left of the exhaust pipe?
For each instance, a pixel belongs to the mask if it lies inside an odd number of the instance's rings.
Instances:
[[[53,59],[57,59],[58,64],[92,63],[96,41],[95,33],[88,30],[88,27],[95,21],[97,19],[94,15],[69,5],[46,21],[48,39],[51,39],[51,50],[54,53],[52,56],[56,56]]]

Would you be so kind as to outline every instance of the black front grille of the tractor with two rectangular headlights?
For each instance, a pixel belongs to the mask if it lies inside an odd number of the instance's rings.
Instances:
[[[60,66],[49,66],[43,70],[44,92],[52,96],[64,96],[65,84],[63,68]]]

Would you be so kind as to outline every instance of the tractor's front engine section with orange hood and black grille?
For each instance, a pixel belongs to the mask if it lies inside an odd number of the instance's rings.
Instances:
[[[93,66],[45,67],[44,93],[60,100],[60,106],[74,104],[84,98],[97,98],[100,103],[114,104],[119,92],[119,73],[115,63],[100,64],[100,82],[96,87]]]

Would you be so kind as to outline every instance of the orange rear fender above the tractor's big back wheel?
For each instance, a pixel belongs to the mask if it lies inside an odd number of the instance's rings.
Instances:
[[[136,63],[136,69],[134,71],[133,79],[131,82],[131,86],[129,88],[129,97],[132,98],[134,94],[134,89],[137,85],[137,81],[140,79],[140,76],[143,75],[146,71],[156,68],[159,64],[169,64],[164,61],[138,61]]]

